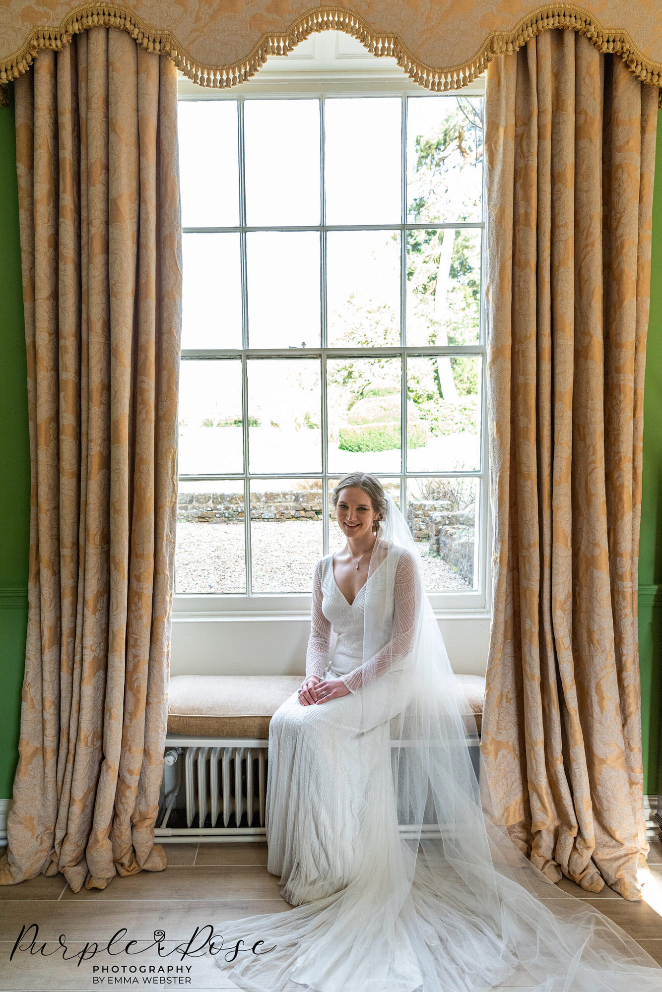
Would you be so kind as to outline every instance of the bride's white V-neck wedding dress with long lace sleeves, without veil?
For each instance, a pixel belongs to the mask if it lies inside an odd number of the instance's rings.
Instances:
[[[412,562],[401,561],[395,574],[394,588],[387,589],[388,572],[377,567],[348,603],[333,577],[332,556],[322,558],[315,569],[306,675],[342,678],[350,692],[308,706],[293,692],[269,726],[267,870],[281,877],[282,896],[293,906],[346,886],[356,867],[359,817],[368,790],[373,800],[364,813],[369,811],[384,827],[395,824],[393,791],[381,788],[391,774],[389,724],[355,729],[362,712],[362,700],[355,693],[361,687],[368,583],[371,594],[388,595],[398,603],[391,629],[384,631],[386,650],[378,660],[382,671],[369,686],[385,699],[390,693],[393,714],[398,711],[394,688],[399,677],[389,677],[387,669],[399,637],[406,637],[414,622]],[[375,585],[380,588],[372,588]],[[332,634],[336,641],[331,653]]]

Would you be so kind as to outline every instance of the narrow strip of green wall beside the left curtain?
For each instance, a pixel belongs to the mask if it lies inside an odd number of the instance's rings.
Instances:
[[[14,108],[0,107],[0,799],[12,794],[28,622],[26,380]]]

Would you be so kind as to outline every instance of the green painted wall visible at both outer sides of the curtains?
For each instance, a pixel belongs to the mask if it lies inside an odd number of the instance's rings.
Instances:
[[[12,87],[9,87],[10,93]],[[644,783],[658,792],[662,702],[662,114],[644,400],[639,652]],[[0,799],[16,766],[27,624],[30,451],[14,111],[0,107]],[[659,791],[662,793],[662,781]]]

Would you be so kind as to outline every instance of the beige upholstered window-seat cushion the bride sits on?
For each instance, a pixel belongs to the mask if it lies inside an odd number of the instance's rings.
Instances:
[[[485,694],[481,676],[457,676],[478,733]],[[188,737],[266,740],[269,722],[296,692],[303,676],[173,676],[168,692],[168,731]]]

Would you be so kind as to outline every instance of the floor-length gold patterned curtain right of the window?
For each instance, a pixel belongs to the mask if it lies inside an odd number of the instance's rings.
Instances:
[[[553,880],[640,898],[637,555],[657,89],[574,32],[487,70],[482,752]]]

